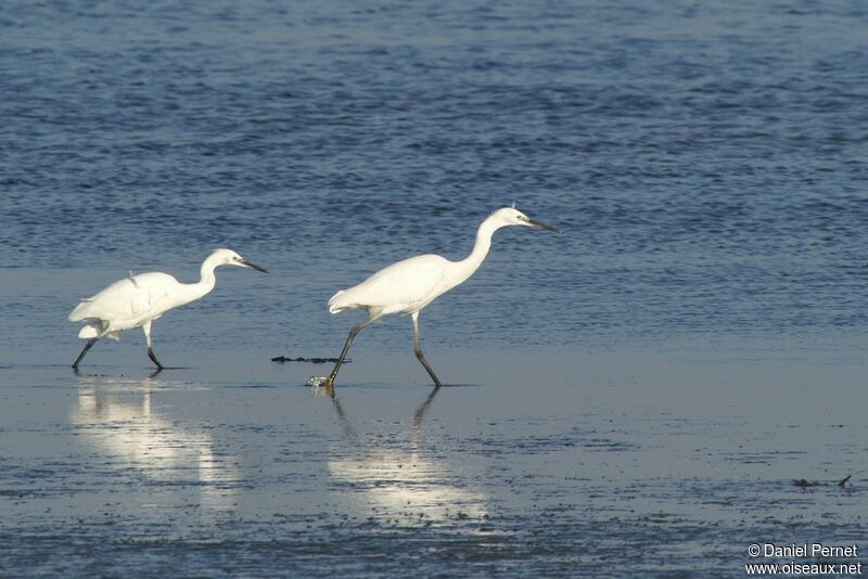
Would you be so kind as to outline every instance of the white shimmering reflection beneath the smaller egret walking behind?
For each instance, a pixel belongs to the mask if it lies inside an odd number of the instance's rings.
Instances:
[[[152,411],[153,397],[167,386],[154,377],[80,376],[72,422],[118,471],[132,468],[145,484],[192,488],[202,506],[230,509],[239,478],[233,458],[217,455],[207,433]]]

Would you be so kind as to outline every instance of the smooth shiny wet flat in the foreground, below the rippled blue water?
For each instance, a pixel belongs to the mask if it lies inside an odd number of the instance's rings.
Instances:
[[[735,576],[751,543],[858,543],[864,362],[751,351],[445,348],[461,384],[438,390],[411,356],[368,355],[334,398],[302,385],[324,366],[222,355],[156,376],[8,363],[0,565]]]

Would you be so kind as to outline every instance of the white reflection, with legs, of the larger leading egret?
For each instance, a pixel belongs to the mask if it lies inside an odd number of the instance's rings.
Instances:
[[[329,473],[342,498],[378,519],[401,525],[443,525],[487,517],[487,497],[469,488],[458,465],[425,447],[422,422],[441,388],[435,387],[413,415],[409,443],[387,446],[358,433],[333,389],[323,389],[337,412],[347,446],[334,449]],[[361,504],[359,504],[361,503]]]

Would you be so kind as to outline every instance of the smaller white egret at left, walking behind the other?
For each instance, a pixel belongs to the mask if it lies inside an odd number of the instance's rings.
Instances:
[[[124,330],[141,326],[148,342],[148,357],[156,364],[157,372],[163,370],[151,347],[151,322],[171,308],[189,304],[214,290],[214,269],[219,266],[239,266],[268,273],[232,249],[215,249],[202,262],[202,279],[196,283],[180,283],[168,273],[153,271],[116,281],[95,296],[82,299],[69,314],[69,321],[85,323],[78,337],[88,338],[88,343],[73,362],[73,368],[78,370],[81,359],[101,337],[119,339]]]

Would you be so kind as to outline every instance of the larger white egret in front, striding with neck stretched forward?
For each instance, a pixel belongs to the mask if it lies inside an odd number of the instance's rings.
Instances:
[[[471,254],[461,261],[449,261],[438,255],[420,255],[398,261],[381,269],[363,282],[348,290],[342,290],[329,300],[329,311],[337,313],[347,309],[368,311],[368,319],[353,326],[346,338],[344,349],[337,357],[334,370],[329,376],[314,376],[311,383],[334,385],[334,378],[349,351],[356,334],[372,322],[390,313],[409,313],[413,322],[413,349],[434,384],[441,381],[422,353],[419,342],[419,312],[435,298],[463,283],[482,265],[492,246],[495,231],[507,226],[532,226],[560,233],[552,226],[531,219],[514,207],[503,207],[493,213],[476,231],[476,243]]]

